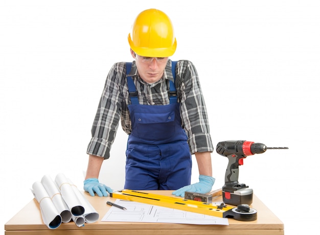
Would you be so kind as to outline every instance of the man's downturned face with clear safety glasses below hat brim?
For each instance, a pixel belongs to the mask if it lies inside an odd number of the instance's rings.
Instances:
[[[135,58],[135,64],[142,80],[147,83],[155,83],[162,78],[168,57],[143,57],[136,55],[132,50],[131,55]]]

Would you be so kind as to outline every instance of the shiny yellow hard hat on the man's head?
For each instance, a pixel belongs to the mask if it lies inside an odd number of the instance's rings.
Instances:
[[[135,18],[128,41],[136,54],[146,57],[172,56],[177,46],[170,18],[157,9],[145,10]]]

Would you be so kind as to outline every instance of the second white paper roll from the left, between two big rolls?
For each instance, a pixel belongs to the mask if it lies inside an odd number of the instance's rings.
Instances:
[[[53,204],[57,208],[62,218],[62,223],[70,222],[72,219],[71,212],[62,198],[57,184],[53,181],[53,179],[49,175],[44,175],[41,179],[41,183],[45,191],[47,191]]]

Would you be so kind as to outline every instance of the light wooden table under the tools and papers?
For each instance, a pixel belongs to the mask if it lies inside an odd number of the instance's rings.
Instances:
[[[172,191],[146,191],[153,194],[169,196]],[[46,235],[46,234],[68,234],[68,235],[100,235],[100,234],[284,234],[284,224],[273,214],[255,195],[251,208],[258,212],[256,221],[244,222],[228,219],[229,225],[194,225],[194,224],[170,224],[170,223],[128,223],[128,222],[101,222],[102,217],[110,208],[106,201],[115,201],[109,197],[91,197],[84,192],[85,197],[99,213],[96,223],[85,223],[78,227],[73,221],[62,223],[56,229],[49,229],[42,222],[38,202],[33,199],[20,210],[11,220],[5,224],[5,235]],[[214,201],[222,201],[221,196]]]

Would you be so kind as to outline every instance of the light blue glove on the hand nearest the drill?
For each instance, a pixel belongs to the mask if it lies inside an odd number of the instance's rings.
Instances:
[[[193,192],[205,194],[209,193],[212,190],[212,186],[215,182],[215,178],[207,175],[199,175],[199,182],[190,184],[181,189],[174,191],[172,194],[175,196],[185,197],[185,192]]]

